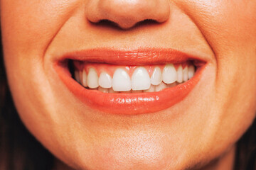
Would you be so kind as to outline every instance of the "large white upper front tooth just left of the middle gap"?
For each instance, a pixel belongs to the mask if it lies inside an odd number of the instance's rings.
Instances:
[[[124,69],[117,69],[112,79],[114,91],[130,91],[132,89],[131,79]]]

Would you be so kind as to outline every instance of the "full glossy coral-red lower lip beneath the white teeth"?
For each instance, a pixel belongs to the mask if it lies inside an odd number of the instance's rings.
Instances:
[[[192,79],[162,91],[139,94],[105,94],[97,90],[85,89],[71,77],[70,72],[59,64],[55,64],[54,68],[68,89],[85,105],[98,111],[119,115],[154,113],[174,106],[186,98],[196,86],[203,70],[203,67],[199,68]]]

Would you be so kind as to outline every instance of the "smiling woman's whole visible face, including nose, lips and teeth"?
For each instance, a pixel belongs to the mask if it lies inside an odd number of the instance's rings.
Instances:
[[[255,118],[256,1],[1,0],[1,31],[23,123],[74,169],[203,166]]]

